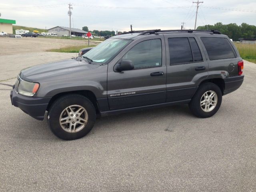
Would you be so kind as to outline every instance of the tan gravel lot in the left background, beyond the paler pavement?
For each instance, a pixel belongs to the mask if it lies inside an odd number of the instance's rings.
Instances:
[[[70,40],[54,38],[0,38],[0,55],[42,52],[48,49],[61,48],[66,46],[87,45],[87,40]],[[90,41],[90,44],[98,42]]]

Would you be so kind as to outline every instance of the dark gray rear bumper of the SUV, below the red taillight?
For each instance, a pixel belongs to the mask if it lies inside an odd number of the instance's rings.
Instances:
[[[226,95],[228,93],[231,93],[237,90],[242,85],[243,81],[244,81],[244,75],[233,76],[233,77],[228,77],[224,79],[225,89],[224,89],[223,95]]]

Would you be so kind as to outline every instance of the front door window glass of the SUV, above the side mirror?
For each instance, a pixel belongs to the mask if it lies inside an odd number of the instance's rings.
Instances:
[[[122,60],[131,60],[134,68],[162,66],[161,40],[152,39],[136,44]]]

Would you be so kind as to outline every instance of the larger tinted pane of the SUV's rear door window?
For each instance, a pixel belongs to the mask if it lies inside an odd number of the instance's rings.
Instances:
[[[188,38],[169,38],[170,64],[193,62]]]

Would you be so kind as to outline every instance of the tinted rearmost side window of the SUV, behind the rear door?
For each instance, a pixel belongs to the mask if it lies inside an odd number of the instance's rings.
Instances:
[[[226,38],[201,37],[210,60],[236,57]]]

